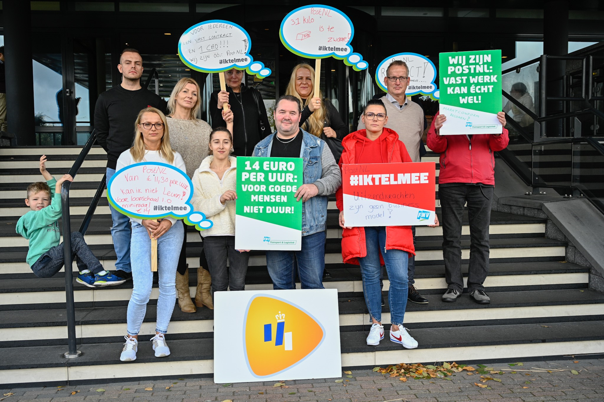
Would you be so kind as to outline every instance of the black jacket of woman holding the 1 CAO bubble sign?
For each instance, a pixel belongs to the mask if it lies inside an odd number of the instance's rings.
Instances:
[[[222,73],[220,73],[222,74]],[[233,110],[233,155],[251,156],[254,152],[254,146],[264,137],[271,134],[271,125],[269,125],[266,116],[266,108],[262,101],[262,95],[254,88],[248,88],[242,84],[241,92],[234,93],[231,87],[226,87],[228,92],[228,102]],[[254,101],[252,91],[256,91],[258,96],[258,107]],[[212,128],[226,127],[222,120],[222,108],[218,108],[218,92],[212,92],[210,96],[210,116],[212,118]],[[259,113],[260,111],[260,113]],[[262,116],[262,117],[260,117]],[[262,119],[266,130],[260,133],[259,121]]]

